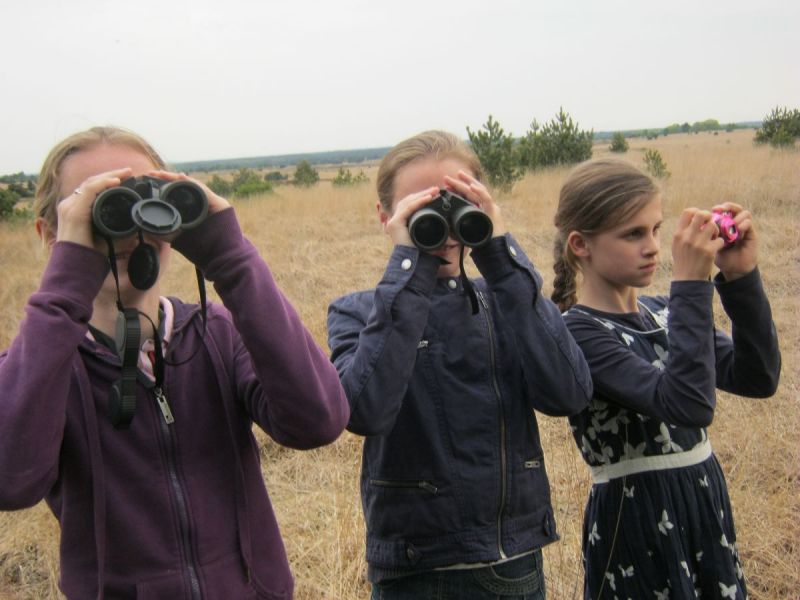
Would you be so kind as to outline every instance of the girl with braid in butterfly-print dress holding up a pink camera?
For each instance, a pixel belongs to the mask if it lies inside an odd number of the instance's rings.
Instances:
[[[711,212],[684,210],[669,297],[639,296],[658,264],[656,185],[625,162],[593,160],[561,189],[552,298],[594,381],[591,405],[570,418],[594,480],[583,527],[587,599],[746,596],[705,428],[715,387],[772,395],[780,354],[752,216],[733,203],[714,208],[734,214],[739,240],[725,247]],[[733,339],[714,329],[715,288]]]

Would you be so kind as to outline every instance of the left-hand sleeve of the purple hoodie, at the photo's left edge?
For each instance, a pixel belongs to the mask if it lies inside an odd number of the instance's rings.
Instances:
[[[56,243],[16,338],[0,354],[0,509],[32,506],[56,482],[72,365],[108,270],[99,252]]]

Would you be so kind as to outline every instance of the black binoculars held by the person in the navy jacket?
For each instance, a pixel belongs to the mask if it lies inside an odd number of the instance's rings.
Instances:
[[[468,200],[442,189],[430,204],[411,215],[408,231],[420,250],[441,248],[451,234],[465,246],[477,248],[491,239],[492,220]]]

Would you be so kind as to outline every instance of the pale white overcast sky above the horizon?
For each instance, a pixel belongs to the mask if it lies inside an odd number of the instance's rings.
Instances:
[[[797,0],[3,0],[0,174],[92,125],[169,162],[800,107]]]

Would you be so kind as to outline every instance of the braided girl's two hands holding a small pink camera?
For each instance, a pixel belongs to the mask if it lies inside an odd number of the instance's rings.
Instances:
[[[726,281],[757,265],[753,219],[739,204],[725,202],[711,211],[687,208],[672,241],[675,280],[707,279],[716,264]]]

